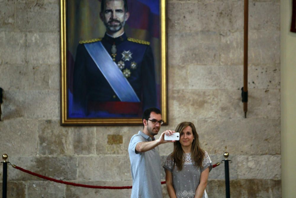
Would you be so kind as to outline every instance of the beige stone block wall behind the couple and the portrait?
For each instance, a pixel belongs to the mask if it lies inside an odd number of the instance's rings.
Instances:
[[[213,162],[228,151],[231,197],[281,197],[280,1],[250,0],[247,119],[240,95],[243,1],[168,0],[167,11],[169,125],[161,131],[192,121]],[[0,154],[56,179],[130,186],[127,148],[141,126],[59,124],[59,1],[0,0],[0,46]],[[164,161],[172,145],[160,145],[160,151]],[[131,193],[65,186],[12,167],[8,174],[8,197]],[[223,179],[222,164],[210,172],[210,197],[225,196]],[[165,185],[163,195],[168,197]]]

